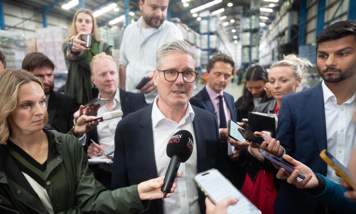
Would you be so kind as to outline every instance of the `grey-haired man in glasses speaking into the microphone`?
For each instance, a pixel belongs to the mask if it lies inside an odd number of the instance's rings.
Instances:
[[[166,214],[205,213],[205,196],[198,191],[193,176],[211,168],[227,171],[216,118],[189,103],[198,75],[195,61],[187,42],[164,44],[157,51],[153,74],[158,96],[151,105],[122,119],[115,132],[111,189],[165,175],[170,162],[166,154],[168,140],[179,130],[192,133],[195,146],[188,161],[179,166],[178,173],[183,176],[176,179],[177,189],[164,200]],[[144,213],[157,214],[161,208],[162,200],[151,201]]]

